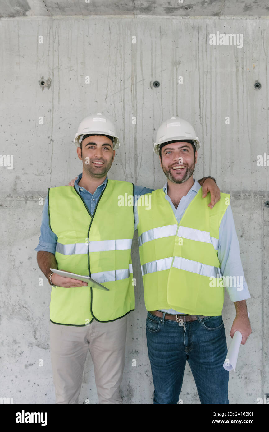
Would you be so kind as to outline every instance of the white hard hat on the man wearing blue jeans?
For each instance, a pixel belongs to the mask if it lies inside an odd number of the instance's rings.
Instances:
[[[182,118],[171,117],[170,120],[161,124],[157,130],[156,143],[154,143],[153,150],[158,155],[161,144],[176,140],[193,140],[196,150],[200,147],[200,141],[196,137],[192,125]]]

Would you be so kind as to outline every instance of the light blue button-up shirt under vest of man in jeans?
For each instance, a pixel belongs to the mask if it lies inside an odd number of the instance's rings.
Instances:
[[[167,182],[165,183],[163,190],[165,192],[165,199],[171,205],[174,215],[177,219],[177,223],[180,223],[182,216],[187,210],[187,206],[196,196],[197,192],[200,189],[200,184],[197,180],[194,180],[193,186],[190,188],[190,191],[181,198],[177,209],[175,209],[174,204],[171,201],[171,198],[167,194]],[[137,229],[138,225],[138,212],[137,206],[135,206],[135,229]],[[242,276],[243,279],[243,289],[237,290],[236,287],[226,287],[230,299],[232,302],[238,302],[240,300],[250,299],[250,293],[247,287],[247,283],[244,276],[244,271],[240,258],[240,248],[237,239],[237,234],[234,226],[233,214],[231,211],[231,206],[227,206],[227,209],[224,213],[222,221],[218,230],[219,241],[218,241],[218,259],[220,262],[220,269],[222,272],[222,276]],[[240,280],[240,279],[239,279]],[[240,287],[241,288],[241,287]],[[160,309],[161,311],[168,312],[170,314],[180,314],[179,311],[175,311],[174,309]]]

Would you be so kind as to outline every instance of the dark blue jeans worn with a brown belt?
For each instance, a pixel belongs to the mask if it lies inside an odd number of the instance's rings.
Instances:
[[[222,315],[184,325],[148,312],[146,336],[152,378],[153,403],[177,403],[186,360],[201,403],[229,403],[229,372],[223,367],[227,344]],[[184,402],[184,401],[183,401]]]

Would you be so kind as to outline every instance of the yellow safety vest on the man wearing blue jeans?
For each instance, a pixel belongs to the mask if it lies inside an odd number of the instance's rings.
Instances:
[[[142,197],[137,202],[146,309],[221,315],[224,288],[211,286],[212,278],[221,276],[218,229],[230,195],[221,194],[210,209],[210,194],[202,198],[200,188],[179,224],[163,189],[147,195],[151,196],[150,210],[142,205]]]

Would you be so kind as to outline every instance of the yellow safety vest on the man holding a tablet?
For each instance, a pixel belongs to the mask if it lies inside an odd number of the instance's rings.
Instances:
[[[133,206],[118,205],[124,194],[133,197],[133,190],[132,183],[108,180],[91,214],[74,187],[48,189],[49,223],[58,237],[58,269],[91,276],[110,290],[52,287],[52,322],[85,326],[93,318],[114,321],[134,310]]]

